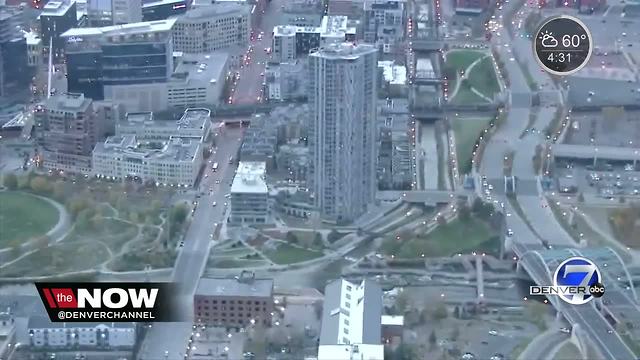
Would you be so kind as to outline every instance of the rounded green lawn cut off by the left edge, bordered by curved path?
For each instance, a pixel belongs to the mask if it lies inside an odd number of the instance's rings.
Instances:
[[[0,248],[45,235],[59,219],[45,200],[21,192],[0,192]]]

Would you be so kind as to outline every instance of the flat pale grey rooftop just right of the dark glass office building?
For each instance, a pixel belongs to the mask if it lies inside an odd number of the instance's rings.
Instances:
[[[217,83],[224,80],[229,54],[183,54],[171,75],[171,82],[189,84]]]

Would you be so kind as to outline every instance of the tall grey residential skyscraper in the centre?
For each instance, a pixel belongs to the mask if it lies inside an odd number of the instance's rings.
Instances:
[[[309,55],[309,180],[327,220],[355,220],[375,197],[376,66],[377,50],[365,44]]]

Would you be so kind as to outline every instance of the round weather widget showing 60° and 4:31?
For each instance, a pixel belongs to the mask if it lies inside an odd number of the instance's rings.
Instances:
[[[569,75],[582,69],[589,61],[592,49],[592,38],[586,25],[566,15],[545,20],[533,41],[536,60],[554,75]]]

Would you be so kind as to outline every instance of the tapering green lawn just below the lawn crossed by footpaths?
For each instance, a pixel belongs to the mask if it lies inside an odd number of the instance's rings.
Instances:
[[[476,140],[490,122],[490,118],[455,118],[451,121],[456,137],[458,170],[461,172],[466,173],[471,170],[471,158]]]

